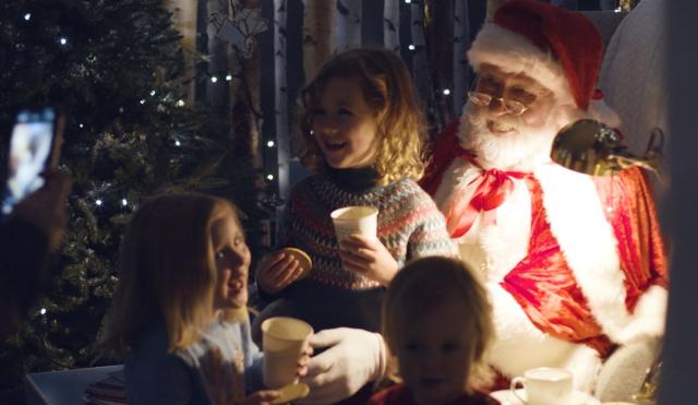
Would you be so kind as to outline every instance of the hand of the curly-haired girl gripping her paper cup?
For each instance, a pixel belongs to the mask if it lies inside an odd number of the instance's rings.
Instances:
[[[378,239],[352,235],[339,246],[339,257],[346,270],[387,286],[397,274],[397,262]]]

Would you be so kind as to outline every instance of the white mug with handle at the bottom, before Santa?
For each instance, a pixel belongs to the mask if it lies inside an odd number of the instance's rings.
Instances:
[[[526,398],[516,393],[524,385]],[[571,372],[552,367],[539,367],[527,370],[524,377],[515,377],[509,386],[512,394],[528,405],[570,404],[573,397]]]

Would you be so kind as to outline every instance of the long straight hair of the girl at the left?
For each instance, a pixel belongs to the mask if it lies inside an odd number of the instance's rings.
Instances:
[[[156,319],[167,326],[168,352],[201,338],[214,319],[217,277],[212,225],[234,206],[222,199],[182,193],[153,198],[133,215],[119,258],[119,283],[100,346],[125,355]]]

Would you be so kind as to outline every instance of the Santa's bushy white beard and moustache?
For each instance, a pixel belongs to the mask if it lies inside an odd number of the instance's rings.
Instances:
[[[532,171],[550,162],[550,151],[559,127],[559,111],[551,110],[541,126],[529,126],[520,117],[494,117],[468,100],[460,118],[458,138],[464,148],[477,155],[483,168]],[[512,134],[494,134],[488,121],[514,128]]]

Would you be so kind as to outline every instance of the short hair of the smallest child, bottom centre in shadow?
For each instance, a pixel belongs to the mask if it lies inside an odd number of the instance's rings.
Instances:
[[[466,323],[472,359],[469,389],[484,386],[491,379],[485,353],[494,337],[492,307],[484,286],[459,260],[430,257],[408,263],[390,282],[383,301],[383,336],[390,353],[398,354],[414,320],[433,314],[454,297],[462,299],[466,312],[461,319],[443,322]]]

